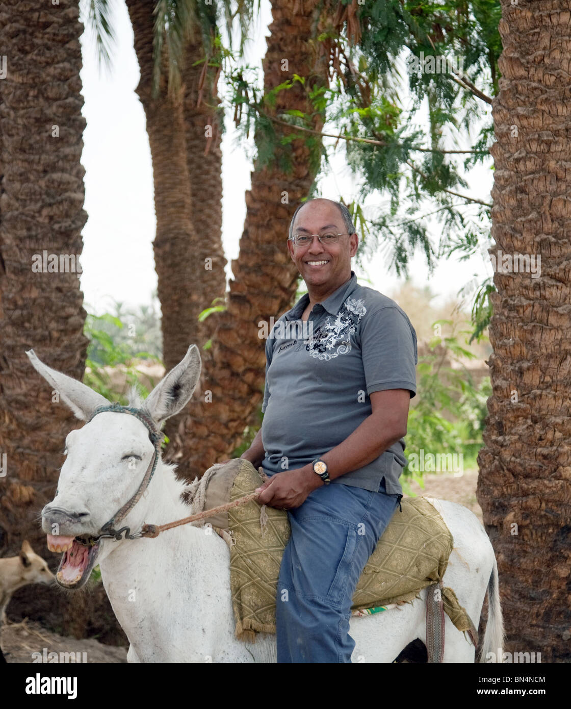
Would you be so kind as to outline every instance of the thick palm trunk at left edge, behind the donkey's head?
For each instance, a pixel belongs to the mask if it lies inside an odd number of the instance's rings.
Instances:
[[[51,367],[77,379],[83,376],[88,340],[83,334],[81,264],[65,258],[81,255],[86,222],[80,162],[85,128],[79,78],[82,31],[72,0],[60,0],[57,9],[41,12],[28,2],[0,2],[0,54],[7,62],[7,75],[0,80],[4,553],[18,552],[24,539],[37,552],[45,549],[38,511],[52,499],[64,437],[79,424],[57,403],[57,393],[40,382],[26,350],[33,347]],[[43,252],[55,255],[58,272],[43,271]],[[40,255],[40,272],[32,269],[33,255]]]

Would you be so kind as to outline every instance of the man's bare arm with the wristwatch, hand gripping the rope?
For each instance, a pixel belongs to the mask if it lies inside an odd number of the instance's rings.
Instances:
[[[371,463],[407,433],[408,389],[373,391],[369,396],[371,415],[321,457],[327,463],[332,480]],[[259,503],[276,508],[299,507],[310,492],[322,485],[323,481],[314,473],[311,464],[285,470],[258,488],[262,491]]]

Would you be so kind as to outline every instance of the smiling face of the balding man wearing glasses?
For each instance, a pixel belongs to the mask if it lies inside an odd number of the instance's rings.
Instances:
[[[339,209],[328,201],[315,200],[298,211],[293,225],[296,234],[343,234],[335,244],[322,244],[313,237],[308,246],[295,246],[288,241],[288,251],[301,277],[310,286],[330,285],[336,289],[351,277],[351,257],[356,254],[358,238],[347,235]]]

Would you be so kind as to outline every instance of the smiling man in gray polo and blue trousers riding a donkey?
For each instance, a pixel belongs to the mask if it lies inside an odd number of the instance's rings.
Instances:
[[[351,661],[351,599],[402,497],[417,337],[395,301],[357,284],[357,245],[340,203],[295,211],[288,250],[307,294],[266,341],[264,423],[242,455],[269,476],[259,502],[291,525],[278,662]]]

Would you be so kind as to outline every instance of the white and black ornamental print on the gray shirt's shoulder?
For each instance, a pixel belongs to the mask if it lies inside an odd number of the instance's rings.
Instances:
[[[366,312],[367,308],[362,300],[349,296],[337,316],[327,316],[324,323],[315,330],[311,340],[307,340],[305,349],[311,357],[326,361],[338,357],[339,354],[351,352],[351,335],[356,332],[357,325]]]

